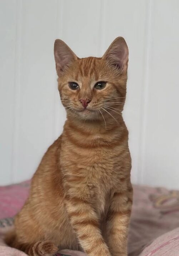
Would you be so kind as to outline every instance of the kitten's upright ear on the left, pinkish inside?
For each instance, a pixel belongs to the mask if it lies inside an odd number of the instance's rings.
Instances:
[[[60,39],[55,40],[54,57],[58,76],[63,74],[70,64],[77,59],[74,52]]]

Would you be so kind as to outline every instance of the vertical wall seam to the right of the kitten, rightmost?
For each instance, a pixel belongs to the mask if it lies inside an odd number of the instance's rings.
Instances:
[[[141,136],[138,159],[138,183],[144,182],[145,172],[145,153],[146,153],[146,122],[148,108],[148,91],[149,91],[149,73],[150,73],[150,53],[151,53],[151,27],[152,27],[152,10],[153,0],[146,2],[146,21],[145,21],[145,47],[144,47],[144,74],[143,74],[143,92],[141,93]]]

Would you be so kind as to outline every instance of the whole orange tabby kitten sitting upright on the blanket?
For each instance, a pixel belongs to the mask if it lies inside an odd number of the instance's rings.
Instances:
[[[54,54],[67,120],[35,172],[6,241],[30,256],[51,256],[58,247],[126,256],[133,194],[121,115],[128,47],[118,37],[102,58],[80,59],[57,39]]]

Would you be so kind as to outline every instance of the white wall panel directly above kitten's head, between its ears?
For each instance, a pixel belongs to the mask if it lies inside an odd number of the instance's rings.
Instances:
[[[102,2],[101,0],[58,1],[56,37],[64,40],[80,58],[101,55]],[[56,92],[55,101],[55,136],[57,137],[62,132],[66,114]]]

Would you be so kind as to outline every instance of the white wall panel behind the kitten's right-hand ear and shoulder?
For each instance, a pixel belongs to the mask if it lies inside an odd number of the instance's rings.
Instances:
[[[105,1],[103,14],[103,51],[117,36],[129,47],[129,69],[124,120],[129,130],[132,156],[132,180],[137,183],[141,134],[141,98],[143,92],[146,1]]]

